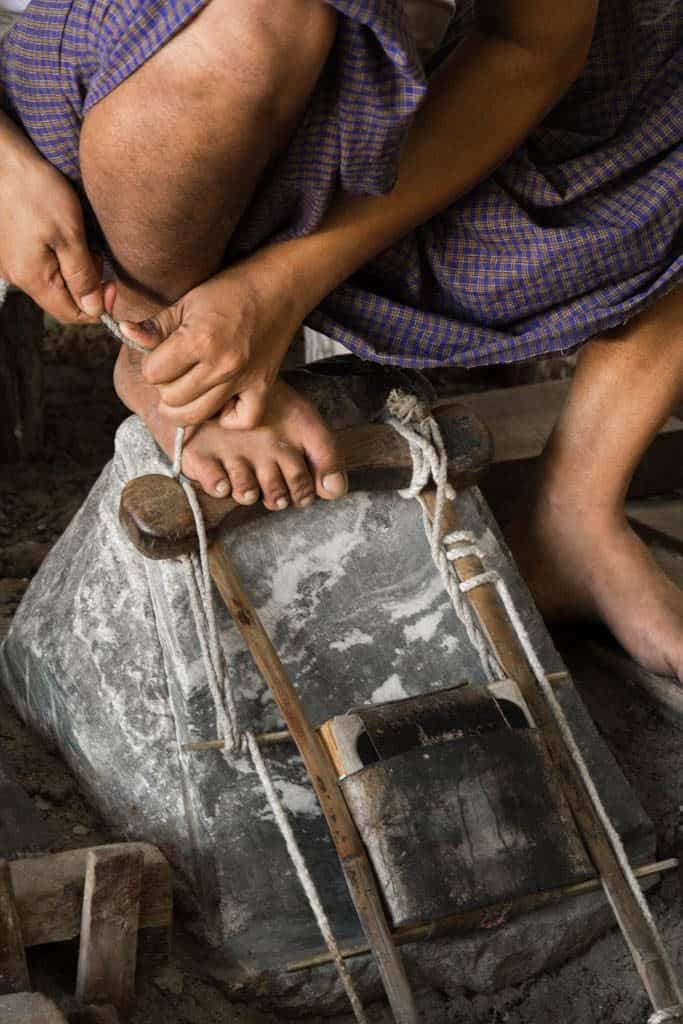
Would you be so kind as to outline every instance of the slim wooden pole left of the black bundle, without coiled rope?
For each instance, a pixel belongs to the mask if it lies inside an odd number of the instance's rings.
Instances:
[[[258,617],[225,550],[214,544],[209,552],[211,574],[225,605],[270,688],[310,775],[321,808],[341,860],[346,883],[397,1024],[417,1024],[418,1013],[396,949],[372,865],[339,780],[321,738]]]

